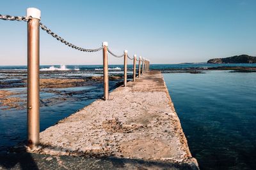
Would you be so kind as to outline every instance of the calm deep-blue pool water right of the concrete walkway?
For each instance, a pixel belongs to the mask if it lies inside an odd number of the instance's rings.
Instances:
[[[164,74],[201,169],[256,169],[256,73]]]

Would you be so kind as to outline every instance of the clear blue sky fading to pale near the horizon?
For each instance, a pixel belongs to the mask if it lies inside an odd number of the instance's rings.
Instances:
[[[255,0],[1,1],[2,15],[41,10],[41,22],[77,46],[108,41],[155,64],[256,55]],[[0,20],[0,65],[26,65],[26,22]],[[109,64],[122,59],[109,56]],[[131,62],[131,61],[130,61]],[[40,29],[40,64],[102,64],[102,52],[68,48]]]

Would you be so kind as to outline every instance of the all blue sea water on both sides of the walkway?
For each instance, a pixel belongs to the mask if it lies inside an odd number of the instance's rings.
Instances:
[[[204,68],[200,74],[164,74],[193,157],[201,169],[256,169],[256,73],[207,71],[209,67],[220,66],[256,67],[256,64],[152,64],[150,69]],[[19,87],[24,85],[20,80],[26,78],[26,69],[26,66],[0,66],[0,90],[18,91],[26,97],[26,88]],[[41,78],[102,75],[102,65],[40,66],[40,69]],[[131,64],[128,70],[132,74]],[[109,66],[109,74],[122,74],[122,71],[122,65]],[[110,89],[114,89],[116,82],[109,83]],[[40,131],[103,94],[102,83],[59,90],[75,93],[67,101],[40,107]],[[40,97],[59,96],[42,91]],[[24,139],[26,110],[0,110],[0,152]]]

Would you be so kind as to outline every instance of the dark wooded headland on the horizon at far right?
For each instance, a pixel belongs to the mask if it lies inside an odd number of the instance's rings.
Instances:
[[[222,63],[256,63],[256,57],[250,55],[235,55],[233,57],[227,57],[223,59],[211,59],[208,60],[209,64],[222,64]]]

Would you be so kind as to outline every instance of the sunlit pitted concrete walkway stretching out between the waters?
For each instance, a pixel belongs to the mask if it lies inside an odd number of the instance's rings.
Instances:
[[[40,133],[49,155],[158,161],[198,169],[159,71],[150,71],[109,100],[98,99]],[[166,167],[165,167],[166,168]]]

